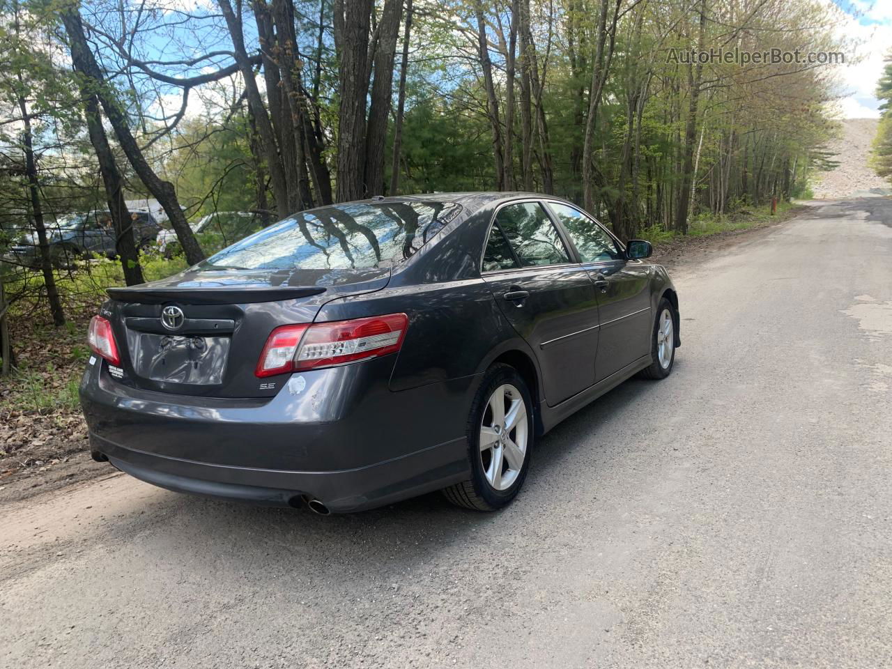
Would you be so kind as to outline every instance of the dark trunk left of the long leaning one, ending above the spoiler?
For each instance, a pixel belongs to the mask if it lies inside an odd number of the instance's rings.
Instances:
[[[133,219],[127,202],[124,201],[124,180],[120,176],[118,164],[111,153],[108,137],[105,136],[103,120],[99,114],[99,101],[91,95],[86,87],[80,88],[84,97],[84,116],[87,119],[87,131],[90,144],[99,162],[99,173],[105,186],[105,200],[111,211],[111,221],[115,232],[115,250],[120,258],[120,266],[124,270],[124,283],[127,285],[142,284],[143,269],[139,266],[139,252],[136,247]]]

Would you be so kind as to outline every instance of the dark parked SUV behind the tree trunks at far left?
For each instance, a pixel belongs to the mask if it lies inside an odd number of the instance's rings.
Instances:
[[[133,219],[136,246],[145,248],[152,244],[161,227],[148,211],[130,212]],[[117,253],[114,225],[111,211],[89,211],[71,214],[54,225],[46,227],[50,255],[57,267],[67,267],[71,260],[93,254],[114,258]],[[13,260],[22,265],[37,267],[40,252],[37,248],[37,233],[21,235],[17,244],[10,248]]]

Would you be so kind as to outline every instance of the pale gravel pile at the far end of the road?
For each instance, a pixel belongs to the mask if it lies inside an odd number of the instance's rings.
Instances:
[[[832,160],[839,166],[830,172],[821,172],[815,178],[814,197],[836,199],[868,194],[892,194],[892,184],[880,178],[868,165],[871,143],[877,134],[878,119],[846,119],[842,133],[830,143],[830,151],[836,153]]]

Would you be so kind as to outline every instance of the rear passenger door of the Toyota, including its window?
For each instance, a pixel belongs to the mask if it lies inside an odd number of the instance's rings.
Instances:
[[[549,406],[595,382],[598,300],[541,202],[510,202],[492,222],[483,280],[539,359]]]

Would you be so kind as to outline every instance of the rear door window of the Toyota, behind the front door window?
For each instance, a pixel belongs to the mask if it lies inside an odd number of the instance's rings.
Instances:
[[[539,202],[521,202],[502,207],[496,225],[523,267],[560,265],[570,261],[558,229]]]

